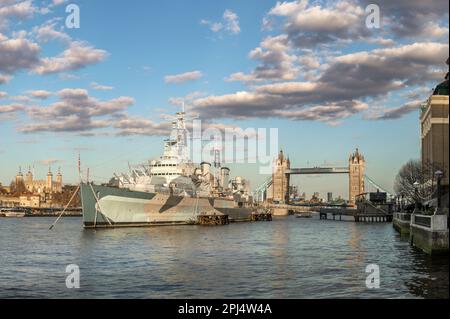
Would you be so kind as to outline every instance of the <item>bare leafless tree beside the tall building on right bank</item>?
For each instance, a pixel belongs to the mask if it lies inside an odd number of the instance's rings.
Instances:
[[[431,199],[436,188],[434,175],[428,174],[432,169],[428,164],[422,164],[420,160],[410,160],[403,165],[395,177],[394,190],[398,195],[404,195],[410,203],[422,202]],[[414,183],[418,182],[416,192]]]

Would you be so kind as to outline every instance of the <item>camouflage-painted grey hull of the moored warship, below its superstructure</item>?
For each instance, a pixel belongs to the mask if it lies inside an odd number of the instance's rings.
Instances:
[[[95,195],[94,195],[95,194]],[[109,186],[81,184],[85,228],[196,224],[200,215],[228,215],[230,222],[250,221],[251,207],[230,199],[170,196]]]

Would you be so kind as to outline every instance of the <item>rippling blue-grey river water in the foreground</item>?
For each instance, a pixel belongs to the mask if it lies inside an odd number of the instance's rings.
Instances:
[[[0,218],[0,298],[448,298],[448,257],[392,224],[275,218],[220,227],[83,230]],[[80,288],[66,287],[66,266]],[[366,266],[380,288],[366,287]]]

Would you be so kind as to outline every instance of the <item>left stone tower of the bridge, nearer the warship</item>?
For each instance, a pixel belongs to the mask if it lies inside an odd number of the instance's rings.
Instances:
[[[273,165],[272,173],[272,200],[289,202],[289,175],[286,171],[291,168],[291,161],[280,151]]]

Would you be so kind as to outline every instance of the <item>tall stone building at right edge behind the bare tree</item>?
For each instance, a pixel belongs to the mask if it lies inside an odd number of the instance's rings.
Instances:
[[[448,60],[447,60],[448,64]],[[448,73],[445,81],[440,83],[428,98],[420,115],[422,139],[422,165],[426,180],[430,181],[437,170],[444,172],[442,185],[448,191]]]

